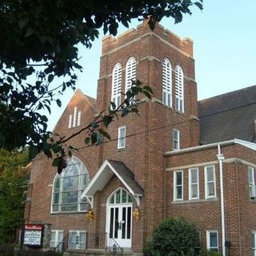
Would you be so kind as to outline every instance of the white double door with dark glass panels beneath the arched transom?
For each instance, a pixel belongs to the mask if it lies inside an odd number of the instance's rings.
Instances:
[[[107,216],[107,230],[110,238],[121,247],[131,247],[132,205],[111,205]]]

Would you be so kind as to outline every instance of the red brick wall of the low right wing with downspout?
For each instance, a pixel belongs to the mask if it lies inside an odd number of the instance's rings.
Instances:
[[[252,230],[256,229],[256,202],[250,200],[248,182],[248,162],[255,163],[253,150],[240,145],[222,146],[224,208],[226,240],[231,242],[230,255],[252,254]],[[202,246],[206,247],[206,230],[218,230],[219,248],[222,245],[219,165],[217,146],[206,150],[196,150],[186,154],[166,157],[166,216],[183,216],[201,230]],[[242,159],[242,160],[241,160]],[[217,198],[205,199],[204,166],[215,166]],[[200,199],[189,201],[188,169],[199,169]],[[183,167],[182,167],[183,166]],[[170,169],[171,168],[171,169]],[[183,170],[183,202],[174,202],[174,170]]]

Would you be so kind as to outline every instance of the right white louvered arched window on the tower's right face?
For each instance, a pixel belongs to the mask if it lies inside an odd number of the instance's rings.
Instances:
[[[184,84],[181,66],[175,68],[175,109],[184,112]]]

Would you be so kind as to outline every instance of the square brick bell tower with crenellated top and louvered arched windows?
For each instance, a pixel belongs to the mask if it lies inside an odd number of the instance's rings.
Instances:
[[[152,31],[146,20],[118,38],[103,38],[99,110],[106,110],[111,101],[123,100],[121,92],[129,88],[127,76],[150,86],[154,94],[151,101],[139,96],[139,116],[129,114],[111,123],[112,141],[101,146],[100,162],[109,158],[124,162],[144,190],[138,206],[142,217],[133,226],[136,250],[142,246],[138,241],[146,241],[166,214],[164,153],[198,146],[193,42],[159,24]]]

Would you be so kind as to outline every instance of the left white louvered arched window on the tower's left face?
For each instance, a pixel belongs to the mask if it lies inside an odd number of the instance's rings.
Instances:
[[[112,95],[111,102],[118,107],[121,104],[122,66],[117,63],[112,73]]]

